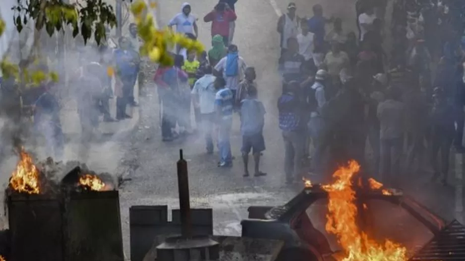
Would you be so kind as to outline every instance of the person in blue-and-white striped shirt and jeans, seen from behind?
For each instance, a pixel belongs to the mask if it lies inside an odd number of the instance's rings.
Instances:
[[[231,154],[231,128],[233,126],[233,91],[227,87],[226,80],[221,77],[215,79],[216,123],[218,125],[218,149],[220,151],[220,162],[218,167],[229,168],[233,166]]]

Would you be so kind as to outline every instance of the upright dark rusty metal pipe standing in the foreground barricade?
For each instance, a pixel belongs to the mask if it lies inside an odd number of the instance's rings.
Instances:
[[[179,191],[179,214],[181,216],[181,233],[184,237],[192,237],[192,222],[190,218],[189,178],[187,174],[187,162],[179,150],[177,161],[177,188]]]

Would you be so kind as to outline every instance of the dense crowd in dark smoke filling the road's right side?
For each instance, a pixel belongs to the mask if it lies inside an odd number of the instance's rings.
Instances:
[[[427,172],[428,165],[434,180],[447,182],[452,145],[464,152],[464,23],[460,12],[448,11],[454,4],[396,0],[390,57],[384,41],[387,1],[357,1],[358,38],[339,18],[324,17],[321,5],[313,6],[310,19],[301,19],[289,4],[277,27],[288,182],[300,180],[306,167],[332,173],[349,159],[388,185],[403,174]],[[326,33],[328,23],[333,29]],[[306,166],[310,141],[314,153]]]

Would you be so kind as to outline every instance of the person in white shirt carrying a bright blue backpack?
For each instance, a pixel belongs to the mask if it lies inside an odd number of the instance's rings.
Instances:
[[[233,92],[233,101],[236,95],[237,87],[243,79],[247,65],[244,59],[239,56],[237,46],[231,44],[228,47],[228,55],[223,57],[216,65],[215,71],[217,73],[223,72],[223,78],[226,80],[226,88]]]

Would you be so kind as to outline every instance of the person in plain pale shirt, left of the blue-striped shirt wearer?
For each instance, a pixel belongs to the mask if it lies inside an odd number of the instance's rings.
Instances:
[[[217,90],[215,89],[215,79],[213,68],[205,67],[205,75],[197,80],[192,88],[191,95],[194,108],[200,111],[201,131],[205,135],[207,153],[213,153],[213,125],[215,122],[215,99]]]

